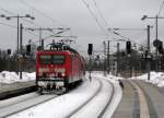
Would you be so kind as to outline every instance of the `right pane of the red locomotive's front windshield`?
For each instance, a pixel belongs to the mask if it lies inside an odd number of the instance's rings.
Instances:
[[[55,64],[65,63],[65,56],[63,55],[54,55],[52,56],[52,63],[55,63]]]

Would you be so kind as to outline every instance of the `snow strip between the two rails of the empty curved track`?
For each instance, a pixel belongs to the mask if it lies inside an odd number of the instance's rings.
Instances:
[[[97,118],[97,116],[102,113],[102,109],[105,107],[109,97],[112,96],[113,87],[104,79],[101,79],[101,81],[103,83],[101,93],[98,93],[96,97],[94,97],[75,115],[71,116],[71,118],[86,118],[86,116],[87,118]]]

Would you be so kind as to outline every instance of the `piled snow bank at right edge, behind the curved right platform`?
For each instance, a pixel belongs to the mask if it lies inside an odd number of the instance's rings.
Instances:
[[[155,84],[159,87],[164,87],[164,73],[163,72],[151,72],[150,80],[148,80],[148,73],[142,74],[140,76],[132,76],[130,79],[143,80],[145,82]]]

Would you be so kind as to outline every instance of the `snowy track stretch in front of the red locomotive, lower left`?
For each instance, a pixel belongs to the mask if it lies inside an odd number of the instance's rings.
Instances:
[[[31,93],[32,94],[32,93]],[[0,103],[0,118],[5,118],[20,111],[26,110],[31,107],[46,103],[50,99],[58,97],[57,95],[22,95],[20,98],[11,98],[8,101],[1,101]],[[15,102],[17,101],[17,102]]]

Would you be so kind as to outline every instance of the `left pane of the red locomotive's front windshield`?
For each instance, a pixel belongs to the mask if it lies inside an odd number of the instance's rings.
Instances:
[[[50,55],[40,55],[39,56],[39,63],[42,63],[42,64],[51,63],[51,56]]]

